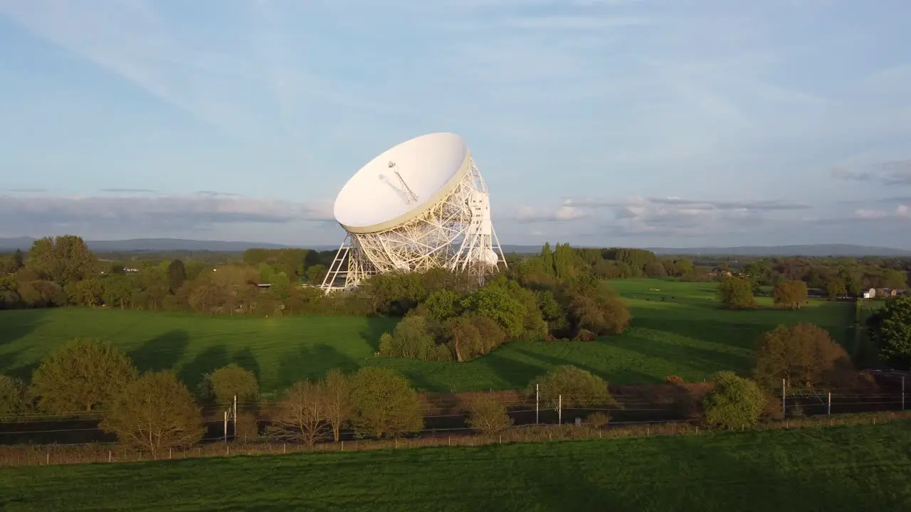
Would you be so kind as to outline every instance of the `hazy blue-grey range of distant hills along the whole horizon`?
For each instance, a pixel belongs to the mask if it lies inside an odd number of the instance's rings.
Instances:
[[[35,239],[31,237],[0,238],[0,251],[15,251],[21,249],[28,251]],[[209,240],[183,240],[169,238],[149,238],[132,240],[105,240],[86,241],[88,248],[99,252],[128,252],[128,251],[212,251],[212,252],[241,252],[248,249],[288,249],[304,247],[302,245],[284,245],[280,243],[262,243],[255,241],[209,241]],[[517,254],[532,254],[541,250],[539,245],[503,245],[504,252]],[[317,251],[333,251],[337,245],[308,246],[308,249]],[[889,247],[868,247],[863,245],[850,245],[844,243],[829,243],[818,245],[775,245],[775,246],[740,246],[740,247],[653,247],[645,248],[656,254],[681,254],[703,256],[907,256],[911,251],[893,249]]]

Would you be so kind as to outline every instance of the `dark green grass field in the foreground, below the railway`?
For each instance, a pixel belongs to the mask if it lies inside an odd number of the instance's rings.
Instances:
[[[0,471],[5,510],[904,510],[911,424]]]

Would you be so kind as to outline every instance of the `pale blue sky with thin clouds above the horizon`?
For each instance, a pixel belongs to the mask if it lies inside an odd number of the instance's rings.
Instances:
[[[466,138],[504,243],[911,248],[906,0],[0,0],[0,236],[333,244]]]

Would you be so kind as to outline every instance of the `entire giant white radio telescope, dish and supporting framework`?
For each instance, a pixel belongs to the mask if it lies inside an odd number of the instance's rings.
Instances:
[[[347,234],[322,281],[327,293],[377,272],[445,268],[480,280],[506,266],[487,186],[454,133],[412,138],[371,160],[345,183],[334,215]]]

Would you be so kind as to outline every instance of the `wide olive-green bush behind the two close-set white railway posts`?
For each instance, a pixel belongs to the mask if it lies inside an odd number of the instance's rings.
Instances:
[[[558,366],[538,377],[529,386],[530,394],[535,394],[535,384],[550,407],[557,407],[560,397],[563,407],[569,409],[615,403],[608,383],[576,366]]]

